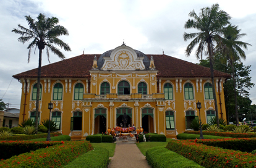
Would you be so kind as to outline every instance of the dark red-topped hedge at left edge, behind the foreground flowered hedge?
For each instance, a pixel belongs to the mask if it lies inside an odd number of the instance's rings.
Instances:
[[[46,146],[61,144],[60,141],[0,141],[0,159],[8,159],[12,156],[35,151]]]

